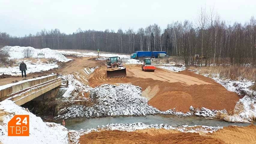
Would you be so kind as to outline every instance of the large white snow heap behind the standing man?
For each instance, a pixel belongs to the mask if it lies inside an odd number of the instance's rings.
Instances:
[[[64,55],[62,55],[60,52],[57,52],[55,50],[44,48],[44,49],[35,49],[33,47],[24,47],[24,46],[5,46],[3,49],[5,51],[8,51],[11,59],[19,59],[24,58],[24,49],[30,49],[32,57],[34,58],[55,58],[58,61],[67,62],[72,59],[66,58]],[[44,56],[38,56],[38,53],[44,53]]]

